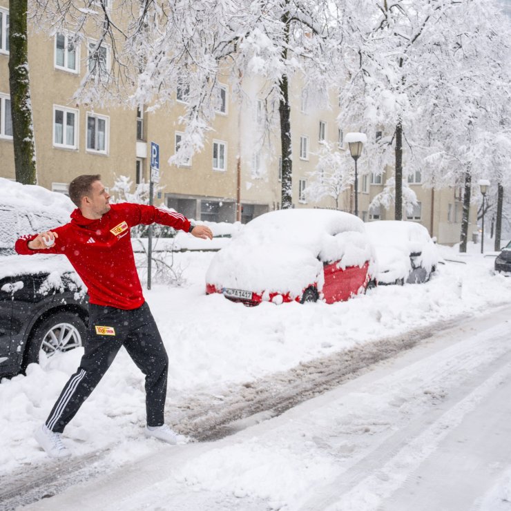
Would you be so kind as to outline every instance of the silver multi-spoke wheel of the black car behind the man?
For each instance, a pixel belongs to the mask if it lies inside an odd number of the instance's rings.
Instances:
[[[28,341],[22,369],[64,351],[81,347],[86,336],[83,320],[76,313],[61,311],[40,322]]]

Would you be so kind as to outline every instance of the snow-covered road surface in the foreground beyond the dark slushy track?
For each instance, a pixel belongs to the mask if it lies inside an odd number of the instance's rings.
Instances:
[[[285,376],[274,376],[273,388],[272,380],[264,387],[255,383],[251,391],[261,394],[267,412],[252,424],[231,423],[229,432],[238,426],[238,433],[214,442],[155,445],[151,454],[117,468],[116,459],[126,456],[116,455],[114,447],[102,463],[88,459],[88,481],[55,485],[61,493],[28,509],[499,509],[507,494],[507,479],[499,478],[511,465],[511,342],[505,319],[510,313],[511,307],[501,307],[437,332],[280,416],[274,415],[279,406],[287,407],[280,396]],[[416,340],[421,337],[416,334]],[[388,356],[391,345],[392,340],[380,343],[380,356],[375,349],[366,363]],[[320,387],[344,365],[322,362],[325,378],[310,371]],[[299,371],[306,381],[309,369]],[[293,402],[301,376],[287,374],[287,398]],[[272,394],[280,397],[272,401]],[[241,406],[246,396],[239,397]],[[235,404],[230,406],[235,418]],[[202,412],[222,416],[211,407]],[[189,417],[190,432],[195,421]],[[218,427],[210,431],[222,436]],[[66,465],[46,466],[46,476],[57,467],[67,472]],[[103,473],[94,478],[93,470]]]

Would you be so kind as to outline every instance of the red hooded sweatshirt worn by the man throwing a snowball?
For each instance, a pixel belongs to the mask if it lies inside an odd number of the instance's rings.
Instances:
[[[19,238],[15,249],[26,255],[64,254],[87,286],[90,303],[137,309],[144,303],[144,296],[135,268],[130,228],[153,223],[186,232],[190,229],[190,221],[180,213],[143,204],[111,204],[110,211],[99,220],[89,220],[75,209],[70,223],[52,229],[59,238],[50,249],[28,248],[28,242],[37,234]]]

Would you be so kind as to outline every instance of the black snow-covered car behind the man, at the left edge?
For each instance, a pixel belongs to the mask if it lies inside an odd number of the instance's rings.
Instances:
[[[0,377],[12,376],[86,335],[86,289],[64,255],[17,255],[24,234],[69,221],[68,197],[0,178]]]

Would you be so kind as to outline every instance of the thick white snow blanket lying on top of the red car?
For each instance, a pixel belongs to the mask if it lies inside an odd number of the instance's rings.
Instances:
[[[321,290],[323,262],[337,260],[341,267],[372,260],[362,220],[326,209],[271,211],[249,222],[215,255],[206,282],[299,296],[311,284]]]

